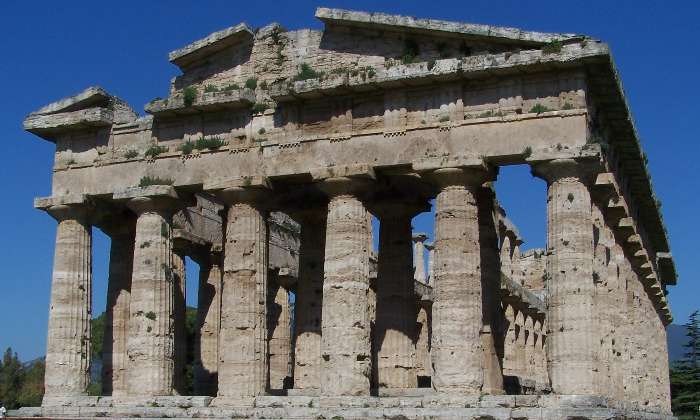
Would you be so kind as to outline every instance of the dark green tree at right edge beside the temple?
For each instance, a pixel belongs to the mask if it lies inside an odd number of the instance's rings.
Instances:
[[[685,356],[671,366],[671,408],[679,419],[696,418],[700,406],[700,312],[685,324]]]

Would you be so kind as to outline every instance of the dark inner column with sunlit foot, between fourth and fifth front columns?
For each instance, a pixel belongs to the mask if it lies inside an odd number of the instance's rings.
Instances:
[[[377,386],[416,388],[416,298],[414,277],[425,282],[422,240],[416,243],[413,272],[411,219],[425,205],[392,200],[376,205],[379,216],[377,317],[375,342]],[[417,235],[420,237],[420,235]],[[413,237],[415,240],[415,237]]]

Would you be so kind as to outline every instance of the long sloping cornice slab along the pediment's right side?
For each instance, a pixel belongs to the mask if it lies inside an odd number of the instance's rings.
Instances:
[[[542,45],[552,41],[570,41],[586,38],[584,35],[524,31],[492,25],[450,22],[437,19],[418,19],[412,16],[369,13],[363,11],[319,7],[316,18],[326,25],[354,28],[374,28],[423,35],[442,35],[478,39],[516,45]]]

